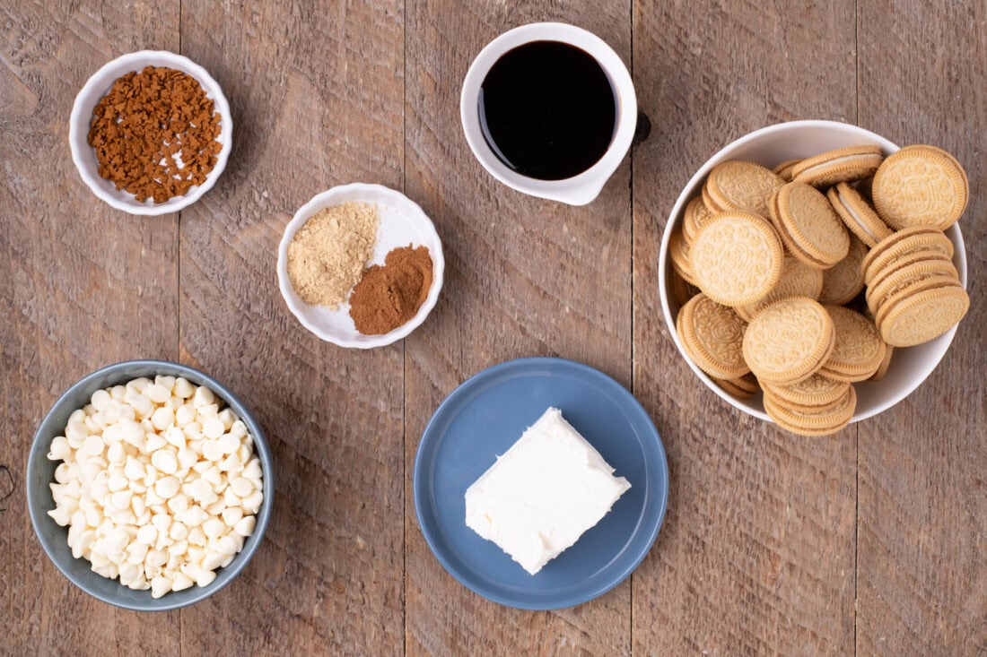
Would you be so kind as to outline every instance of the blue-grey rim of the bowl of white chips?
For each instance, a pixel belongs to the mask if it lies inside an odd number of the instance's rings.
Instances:
[[[207,586],[195,587],[190,589],[195,593],[191,595],[186,600],[182,602],[170,602],[169,595],[165,595],[161,598],[154,599],[151,597],[151,592],[146,591],[147,601],[146,603],[130,603],[127,601],[122,601],[114,598],[113,596],[106,596],[102,593],[91,590],[85,583],[85,581],[77,578],[69,569],[63,567],[61,561],[55,557],[53,547],[50,545],[48,540],[44,537],[42,532],[39,531],[39,525],[41,523],[54,523],[54,521],[44,512],[41,508],[39,501],[40,495],[49,495],[50,489],[46,485],[40,488],[36,487],[34,483],[34,477],[31,476],[33,472],[39,467],[42,460],[47,460],[45,452],[38,450],[38,443],[45,439],[41,435],[41,428],[46,423],[48,417],[55,411],[59,406],[67,403],[71,397],[73,397],[80,389],[85,388],[93,381],[103,377],[107,374],[113,374],[117,370],[124,370],[127,368],[160,368],[166,366],[172,370],[177,370],[182,374],[177,376],[191,376],[197,381],[202,383],[198,385],[205,385],[214,393],[216,393],[223,401],[226,402],[228,406],[234,409],[241,420],[247,425],[248,430],[254,438],[254,453],[257,455],[258,459],[261,461],[261,467],[264,470],[264,501],[261,504],[261,509],[257,513],[257,525],[254,528],[254,533],[251,534],[250,538],[244,543],[243,549],[238,552],[233,561],[230,562],[228,566],[222,568],[221,571],[228,573],[228,576],[224,577],[222,581],[218,578]],[[147,376],[147,375],[142,375]],[[171,376],[171,375],[168,375]],[[50,439],[48,439],[50,440]],[[125,360],[117,363],[101,367],[94,372],[91,372],[84,376],[83,378],[76,381],[74,384],[69,386],[64,393],[62,393],[56,401],[51,404],[51,407],[41,418],[38,423],[38,429],[35,431],[35,435],[31,441],[30,452],[28,456],[28,467],[27,467],[27,484],[25,485],[26,494],[28,497],[28,510],[31,516],[31,526],[35,531],[35,536],[38,538],[38,542],[47,555],[48,560],[54,564],[54,566],[62,573],[72,584],[74,584],[78,589],[87,593],[88,595],[105,602],[107,604],[113,605],[120,609],[126,609],[134,612],[169,612],[176,609],[182,609],[185,607],[190,607],[196,603],[205,600],[206,598],[214,595],[218,591],[225,588],[230,582],[236,579],[237,576],[247,567],[254,554],[257,552],[258,548],[264,542],[264,535],[267,530],[267,525],[270,522],[270,514],[273,509],[274,501],[274,460],[273,455],[270,451],[270,446],[267,444],[264,431],[261,425],[254,418],[253,414],[244,405],[243,401],[240,401],[236,395],[233,394],[226,386],[222,385],[211,376],[205,374],[204,372],[190,367],[189,365],[183,365],[181,363],[176,363],[167,360],[155,360],[155,359],[138,359],[138,360]],[[73,557],[74,558],[74,557]],[[81,558],[81,557],[80,557]],[[118,580],[114,580],[119,584]],[[122,584],[119,584],[121,588]]]

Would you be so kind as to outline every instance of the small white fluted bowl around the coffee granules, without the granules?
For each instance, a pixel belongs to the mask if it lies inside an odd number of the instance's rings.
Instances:
[[[216,166],[206,176],[204,183],[195,185],[189,189],[189,193],[174,196],[164,203],[155,203],[153,199],[140,203],[130,192],[116,189],[114,183],[100,176],[96,151],[87,141],[89,126],[93,121],[93,108],[107,95],[117,78],[131,71],[142,70],[145,66],[167,66],[195,78],[205,91],[205,95],[212,99],[215,110],[222,117],[219,137],[216,141],[223,147],[216,155]],[[75,105],[72,106],[72,116],[69,119],[68,140],[72,148],[72,161],[75,163],[75,168],[79,170],[79,176],[94,194],[117,210],[130,214],[167,214],[178,212],[194,203],[223,173],[226,160],[230,157],[230,149],[233,147],[233,117],[230,115],[230,106],[223,96],[223,91],[204,68],[188,57],[167,50],[140,50],[117,57],[89,78],[82,91],[75,97]]]

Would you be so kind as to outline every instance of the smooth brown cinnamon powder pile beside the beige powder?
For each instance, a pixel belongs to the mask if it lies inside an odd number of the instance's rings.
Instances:
[[[425,247],[391,251],[384,265],[363,273],[349,297],[349,317],[364,335],[388,333],[418,313],[431,288],[432,262]]]

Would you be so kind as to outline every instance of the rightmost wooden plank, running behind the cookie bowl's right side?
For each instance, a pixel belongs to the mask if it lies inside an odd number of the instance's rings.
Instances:
[[[860,118],[898,144],[949,150],[966,168],[960,220],[970,312],[907,400],[860,429],[857,648],[987,652],[987,7],[860,3]],[[935,52],[934,57],[929,56]]]

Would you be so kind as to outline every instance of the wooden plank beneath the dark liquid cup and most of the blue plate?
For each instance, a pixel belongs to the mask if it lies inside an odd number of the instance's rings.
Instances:
[[[406,340],[406,472],[431,413],[464,379],[512,358],[559,355],[630,386],[630,167],[573,208],[495,182],[459,120],[461,81],[493,37],[559,20],[606,39],[630,63],[630,5],[408,3],[407,193],[435,222],[446,258],[432,316]],[[500,607],[448,575],[425,545],[405,477],[409,654],[630,651],[630,585],[572,610]]]

